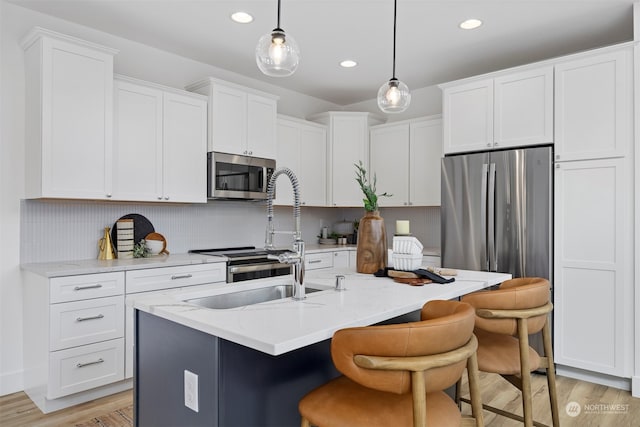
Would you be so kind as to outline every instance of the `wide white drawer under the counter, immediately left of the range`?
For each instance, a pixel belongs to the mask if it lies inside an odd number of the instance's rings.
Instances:
[[[224,282],[227,264],[216,262],[127,271],[127,293]]]

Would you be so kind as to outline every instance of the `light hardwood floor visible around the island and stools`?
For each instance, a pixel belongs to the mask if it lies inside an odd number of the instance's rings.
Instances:
[[[533,377],[535,420],[551,424],[551,412],[547,394],[546,378]],[[522,414],[520,394],[497,375],[480,373],[480,388],[483,403]],[[563,427],[639,427],[640,399],[631,397],[628,391],[605,387],[571,378],[558,377],[558,407],[560,425]],[[463,384],[463,394],[467,393]],[[108,414],[132,403],[131,390],[87,402],[73,408],[44,415],[22,392],[0,397],[0,426],[2,427],[53,427],[73,426],[92,417]],[[565,408],[576,402],[581,413],[570,417]],[[609,405],[609,406],[607,406]],[[617,405],[613,408],[611,405]],[[611,409],[618,411],[611,411]],[[470,413],[469,405],[463,404],[463,412]],[[522,424],[484,411],[485,424],[490,427],[516,427]]]

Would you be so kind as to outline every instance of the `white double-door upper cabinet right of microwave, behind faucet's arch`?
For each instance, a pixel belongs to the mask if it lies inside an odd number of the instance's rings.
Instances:
[[[323,125],[278,117],[278,155],[276,166],[295,173],[303,206],[327,204],[327,130]],[[288,179],[276,183],[277,205],[293,205],[293,189]]]

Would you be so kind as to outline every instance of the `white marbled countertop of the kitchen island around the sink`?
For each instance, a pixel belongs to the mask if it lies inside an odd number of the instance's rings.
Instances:
[[[333,290],[336,274],[344,274],[347,290]],[[187,299],[290,283],[291,277],[260,279],[127,298],[127,304],[181,325],[262,351],[280,355],[329,339],[338,329],[365,326],[411,313],[434,299],[452,299],[507,279],[510,274],[461,270],[449,284],[409,286],[390,278],[359,274],[350,269],[308,271],[306,286],[328,290],[250,306],[213,310],[183,302]]]

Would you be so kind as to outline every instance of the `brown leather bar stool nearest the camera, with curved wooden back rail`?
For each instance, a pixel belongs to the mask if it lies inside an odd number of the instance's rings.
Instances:
[[[303,427],[483,426],[474,309],[430,301],[421,321],[337,331],[331,356],[344,375],[300,400]],[[474,418],[443,390],[467,367]]]

